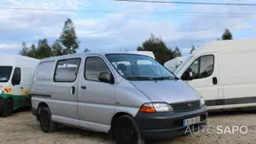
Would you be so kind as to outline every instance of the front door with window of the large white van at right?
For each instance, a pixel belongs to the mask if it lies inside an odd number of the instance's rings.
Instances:
[[[185,80],[191,87],[194,87],[206,100],[208,109],[215,109],[219,95],[219,71],[217,54],[204,55],[197,57],[182,74],[182,80]],[[219,106],[218,108],[223,107]]]

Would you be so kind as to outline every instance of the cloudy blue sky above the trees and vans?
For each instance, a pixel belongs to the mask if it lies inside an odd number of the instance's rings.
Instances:
[[[256,4],[256,0],[204,2]],[[234,39],[256,37],[256,6],[152,4],[113,0],[1,0],[0,5],[0,52],[11,54],[19,53],[22,42],[30,46],[39,39],[47,38],[52,44],[58,39],[64,21],[68,18],[73,20],[81,42],[78,52],[86,48],[94,52],[136,50],[137,46],[154,34],[160,36],[168,48],[175,49],[177,46],[186,55],[191,45],[198,48],[205,42],[215,41],[221,37],[225,28],[229,28]],[[204,16],[198,16],[198,13]],[[226,16],[213,17],[213,13],[225,13]],[[237,16],[234,13],[244,14]]]

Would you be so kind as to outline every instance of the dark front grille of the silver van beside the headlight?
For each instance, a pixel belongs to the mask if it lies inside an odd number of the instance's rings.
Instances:
[[[174,112],[197,110],[200,108],[200,101],[171,103]]]

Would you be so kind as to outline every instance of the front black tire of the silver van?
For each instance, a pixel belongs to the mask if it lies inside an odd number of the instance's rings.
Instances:
[[[116,144],[144,144],[141,132],[133,117],[119,117],[113,125]]]

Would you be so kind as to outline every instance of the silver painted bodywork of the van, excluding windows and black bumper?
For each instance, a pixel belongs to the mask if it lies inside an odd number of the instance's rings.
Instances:
[[[50,72],[47,72],[51,79],[34,79],[33,109],[36,110],[44,102],[49,106],[51,118],[55,122],[107,133],[111,128],[112,117],[119,112],[136,117],[140,107],[147,102],[187,102],[200,98],[196,91],[181,80],[125,80],[110,64],[105,54],[107,53],[75,54],[43,59],[41,63],[51,62],[48,69]],[[53,75],[58,60],[77,57],[81,58],[81,63],[76,80],[54,82]],[[100,57],[112,72],[114,84],[86,80],[84,66],[87,57]],[[86,89],[82,89],[82,86]]]

